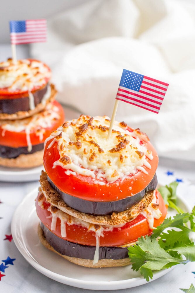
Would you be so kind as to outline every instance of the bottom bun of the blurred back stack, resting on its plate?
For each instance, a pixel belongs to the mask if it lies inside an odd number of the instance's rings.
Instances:
[[[33,154],[21,154],[17,158],[1,158],[0,165],[10,168],[32,168],[41,166],[43,163],[43,150]]]

